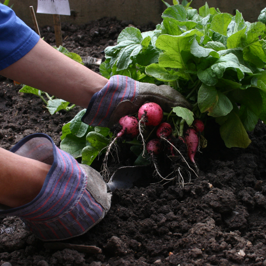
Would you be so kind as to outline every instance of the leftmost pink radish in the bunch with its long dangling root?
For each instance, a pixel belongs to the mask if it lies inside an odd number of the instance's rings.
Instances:
[[[138,130],[138,120],[133,116],[123,116],[119,120],[119,124],[122,126],[122,129],[117,133],[113,141],[110,143],[110,145],[107,148],[107,151],[105,153],[105,158],[103,160],[103,173],[106,174],[107,172],[107,159],[108,154],[110,153],[111,147],[117,140],[117,138],[123,136],[124,134],[130,135],[132,138],[136,137],[139,134]]]

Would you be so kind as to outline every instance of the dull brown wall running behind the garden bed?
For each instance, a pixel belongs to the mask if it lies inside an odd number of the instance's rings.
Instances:
[[[172,4],[172,0],[166,1]],[[34,6],[36,12],[37,0],[10,0],[10,5],[13,3],[16,15],[33,27],[29,6]],[[204,4],[205,0],[194,0],[191,6],[198,9]],[[208,4],[231,14],[238,9],[250,22],[255,22],[260,11],[266,7],[265,0],[209,0]],[[61,22],[84,24],[104,16],[116,16],[120,20],[133,20],[136,26],[149,21],[157,24],[161,22],[161,13],[165,9],[161,0],[69,0],[69,5],[76,17],[61,15]],[[36,14],[36,17],[39,26],[53,24],[52,15]]]

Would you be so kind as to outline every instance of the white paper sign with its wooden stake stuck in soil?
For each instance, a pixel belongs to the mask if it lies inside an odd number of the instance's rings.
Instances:
[[[53,14],[56,47],[62,45],[63,41],[60,15],[70,16],[70,7],[68,0],[38,0],[37,13]]]

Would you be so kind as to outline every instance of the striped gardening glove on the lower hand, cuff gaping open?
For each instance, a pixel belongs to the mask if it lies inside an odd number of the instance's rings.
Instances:
[[[29,135],[10,151],[52,165],[34,200],[16,208],[0,206],[0,214],[19,216],[41,240],[82,235],[110,209],[111,194],[107,193],[101,175],[87,165],[78,164],[46,134]]]

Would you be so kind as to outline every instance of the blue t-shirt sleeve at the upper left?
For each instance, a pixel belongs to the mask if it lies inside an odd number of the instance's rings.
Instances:
[[[26,55],[39,39],[12,9],[0,4],[0,70]]]

